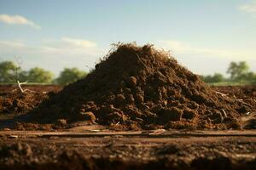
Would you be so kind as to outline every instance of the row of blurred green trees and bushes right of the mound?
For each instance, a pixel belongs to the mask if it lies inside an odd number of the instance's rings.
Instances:
[[[202,76],[205,82],[256,82],[256,73],[250,71],[250,67],[246,61],[230,62],[227,69],[230,77],[224,77],[221,73]]]

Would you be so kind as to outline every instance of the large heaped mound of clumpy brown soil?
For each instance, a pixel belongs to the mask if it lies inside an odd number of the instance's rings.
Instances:
[[[252,106],[216,93],[152,45],[119,44],[96,69],[52,95],[31,122],[90,120],[125,128],[240,128]]]

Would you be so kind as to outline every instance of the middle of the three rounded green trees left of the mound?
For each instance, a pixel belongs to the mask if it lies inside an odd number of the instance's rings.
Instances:
[[[34,67],[23,73],[29,82],[49,83],[53,81],[54,74],[42,68]]]

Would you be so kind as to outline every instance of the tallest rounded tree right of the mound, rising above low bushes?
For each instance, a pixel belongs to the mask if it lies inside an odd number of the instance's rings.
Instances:
[[[227,73],[231,80],[241,81],[249,73],[249,66],[246,61],[231,62]]]

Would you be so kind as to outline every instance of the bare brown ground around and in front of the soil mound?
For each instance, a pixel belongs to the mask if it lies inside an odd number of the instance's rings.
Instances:
[[[30,88],[38,93],[61,89]],[[0,87],[0,98],[10,94],[12,90],[12,87]],[[216,91],[236,95],[237,99],[253,105],[255,111],[255,87],[223,87],[216,88]],[[242,124],[252,130],[159,129],[124,132],[100,125],[82,125],[59,130],[50,128],[44,131],[4,128],[4,122],[12,119],[15,111],[23,114],[26,109],[31,109],[32,105],[24,107],[22,101],[25,100],[10,99],[9,104],[13,107],[6,105],[1,110],[1,170],[256,169],[254,112],[245,117]],[[248,122],[249,118],[251,119]]]

